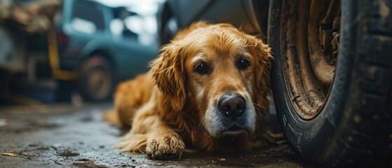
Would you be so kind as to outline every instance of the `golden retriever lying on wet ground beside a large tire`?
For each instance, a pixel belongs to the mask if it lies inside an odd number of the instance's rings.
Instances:
[[[130,132],[116,147],[175,159],[185,148],[259,146],[272,59],[268,45],[232,25],[194,23],[161,48],[148,73],[117,87],[105,118]]]

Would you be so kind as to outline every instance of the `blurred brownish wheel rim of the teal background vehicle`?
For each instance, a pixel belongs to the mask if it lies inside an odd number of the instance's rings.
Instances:
[[[88,90],[91,97],[105,99],[111,90],[109,74],[104,69],[97,68],[88,77]]]

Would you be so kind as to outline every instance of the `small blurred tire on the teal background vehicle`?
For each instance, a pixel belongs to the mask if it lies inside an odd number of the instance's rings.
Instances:
[[[99,55],[94,55],[81,65],[79,92],[88,102],[109,100],[116,85],[115,81],[109,62]]]

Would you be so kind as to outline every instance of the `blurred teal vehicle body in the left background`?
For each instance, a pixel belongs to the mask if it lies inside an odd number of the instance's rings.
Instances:
[[[136,36],[114,36],[110,29],[114,14],[114,8],[95,1],[63,1],[62,21],[56,27],[60,70],[77,71],[92,55],[110,62],[119,80],[148,70],[156,45],[143,45]]]

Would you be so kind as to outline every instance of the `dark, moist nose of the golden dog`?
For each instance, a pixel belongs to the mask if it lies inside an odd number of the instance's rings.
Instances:
[[[225,117],[235,120],[245,111],[245,98],[240,94],[224,94],[218,102],[218,108]]]

